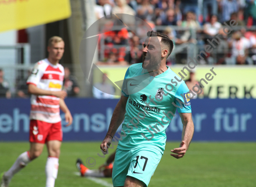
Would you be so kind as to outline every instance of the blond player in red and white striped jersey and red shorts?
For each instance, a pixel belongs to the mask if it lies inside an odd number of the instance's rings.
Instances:
[[[46,144],[48,158],[46,162],[46,187],[53,187],[58,175],[61,130],[60,109],[65,113],[67,126],[73,118],[64,102],[67,93],[62,90],[64,68],[59,61],[64,53],[64,41],[60,37],[48,40],[48,58],[34,65],[27,80],[28,92],[32,94],[30,110],[30,149],[16,159],[14,165],[2,176],[1,187],[7,187],[12,177],[40,156]]]

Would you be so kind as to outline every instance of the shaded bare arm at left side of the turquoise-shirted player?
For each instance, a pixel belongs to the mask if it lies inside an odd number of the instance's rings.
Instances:
[[[100,149],[103,150],[104,152],[107,151],[106,148],[107,145],[109,146],[112,141],[112,137],[114,134],[116,134],[116,131],[118,127],[121,125],[123,119],[125,118],[125,108],[126,108],[126,103],[127,103],[128,97],[121,96],[120,100],[117,103],[116,108],[114,108],[114,112],[111,118],[111,122],[108,128],[108,133],[105,136],[103,142],[100,144]]]

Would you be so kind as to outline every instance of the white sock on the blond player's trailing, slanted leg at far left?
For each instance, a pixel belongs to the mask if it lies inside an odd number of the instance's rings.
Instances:
[[[28,151],[20,154],[20,156],[14,162],[14,165],[5,173],[5,176],[12,177],[14,174],[19,172],[23,167],[27,166],[30,162],[30,157]]]

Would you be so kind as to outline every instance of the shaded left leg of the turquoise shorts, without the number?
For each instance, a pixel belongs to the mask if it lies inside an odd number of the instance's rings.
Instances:
[[[112,181],[114,187],[123,186],[125,184],[126,175],[130,166],[131,155],[130,150],[116,150],[112,172]]]

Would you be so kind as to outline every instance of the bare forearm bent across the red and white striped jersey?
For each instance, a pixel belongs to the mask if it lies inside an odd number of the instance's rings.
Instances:
[[[54,95],[55,97],[59,97],[64,99],[67,96],[67,93],[63,90],[61,91],[50,91],[50,90],[43,90],[41,88],[37,88],[34,84],[28,84],[28,93],[34,95]]]

